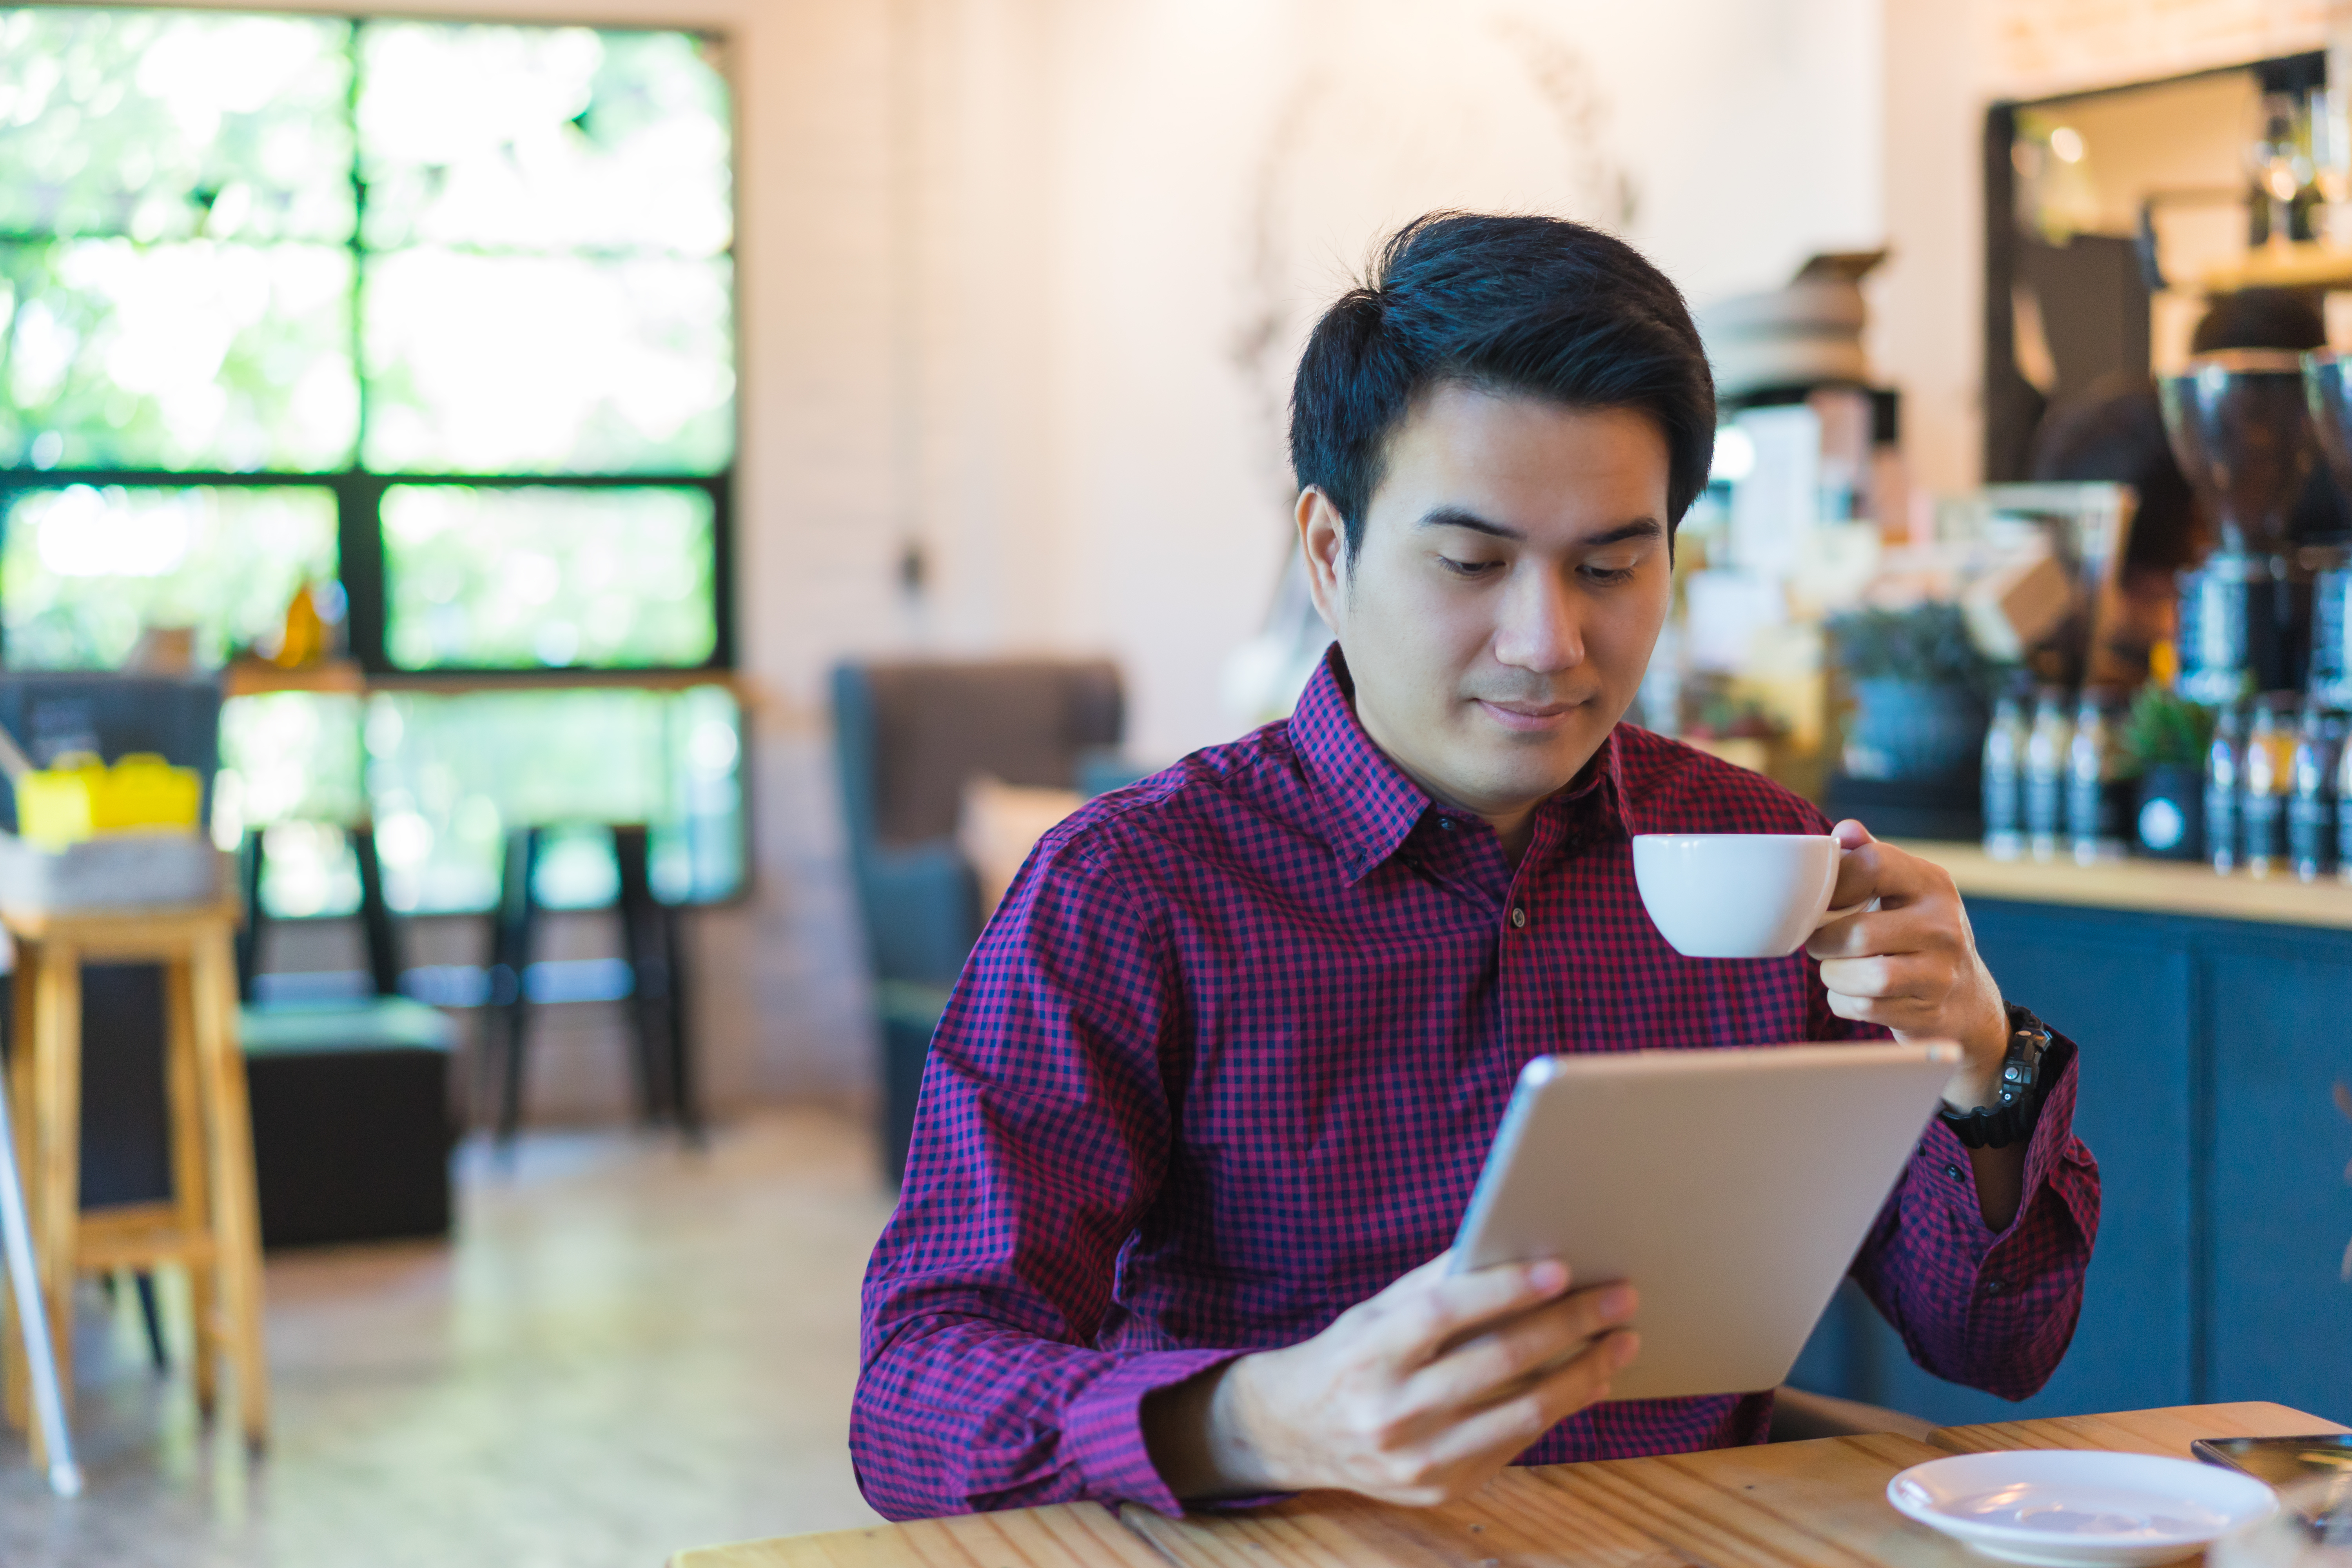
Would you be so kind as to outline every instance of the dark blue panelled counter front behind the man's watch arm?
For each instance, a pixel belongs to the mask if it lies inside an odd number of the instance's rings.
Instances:
[[[1792,1382],[1936,1422],[2277,1399],[2352,1418],[2352,931],[1969,900],[2002,992],[2082,1048],[2103,1213],[2034,1399],[1910,1363],[1849,1286]]]

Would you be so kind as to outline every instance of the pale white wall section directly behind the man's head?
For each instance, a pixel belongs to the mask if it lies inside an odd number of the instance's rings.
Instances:
[[[1232,731],[1216,672],[1284,550],[1289,367],[1383,233],[1430,207],[1559,212],[1705,303],[1884,226],[1875,0],[915,14],[969,71],[924,103],[938,576],[913,630],[1115,651],[1150,755]],[[1007,33],[1021,47],[988,45]]]

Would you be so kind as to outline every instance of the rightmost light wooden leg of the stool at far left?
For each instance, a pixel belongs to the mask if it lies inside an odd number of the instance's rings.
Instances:
[[[221,1340],[238,1373],[245,1441],[256,1453],[270,1427],[270,1373],[261,1349],[261,1218],[254,1194],[254,1128],[238,1051],[238,971],[228,926],[200,936],[191,985],[195,1065],[212,1128],[212,1248],[221,1291]]]

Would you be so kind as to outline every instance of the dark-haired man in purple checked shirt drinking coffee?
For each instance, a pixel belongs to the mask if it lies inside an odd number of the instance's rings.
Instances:
[[[1677,957],[1639,907],[1632,832],[1825,830],[1618,726],[1712,435],[1682,296],[1576,223],[1421,219],[1322,317],[1291,458],[1336,646],[1289,722],[1047,835],[964,966],[866,1279],[877,1509],[1439,1502],[1759,1441],[1769,1394],[1606,1403],[1639,1281],[1444,1272],[1555,1051],[1962,1041],[1853,1272],[1926,1368],[2042,1387],[2098,1173],[2072,1046],[2004,1006],[1950,877],[1839,823],[1865,910],[1778,961]],[[2034,1086],[1994,1110],[2004,1060]]]

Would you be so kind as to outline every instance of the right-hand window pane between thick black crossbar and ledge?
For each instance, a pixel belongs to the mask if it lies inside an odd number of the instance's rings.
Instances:
[[[699,489],[395,484],[393,663],[699,665],[717,642],[710,524]]]

